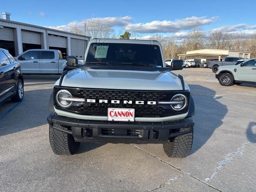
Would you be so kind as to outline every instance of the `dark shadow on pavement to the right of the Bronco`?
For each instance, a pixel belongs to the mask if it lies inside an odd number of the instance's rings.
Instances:
[[[214,90],[195,84],[190,84],[189,87],[195,103],[194,138],[190,153],[193,154],[204,146],[214,131],[223,124],[222,119],[228,113],[228,108],[218,101],[222,96],[216,97]]]

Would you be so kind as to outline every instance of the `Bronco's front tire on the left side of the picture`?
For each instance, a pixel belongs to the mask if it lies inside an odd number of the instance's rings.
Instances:
[[[68,127],[59,124],[53,124],[54,127],[68,130]],[[77,152],[80,142],[75,142],[74,137],[70,134],[49,128],[49,138],[52,151],[57,155],[73,155]]]

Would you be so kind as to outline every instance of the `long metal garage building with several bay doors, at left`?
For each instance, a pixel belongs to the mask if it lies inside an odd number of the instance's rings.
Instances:
[[[58,49],[63,56],[74,55],[84,59],[89,36],[54,30],[10,20],[10,13],[0,19],[0,48],[18,56],[28,49]]]

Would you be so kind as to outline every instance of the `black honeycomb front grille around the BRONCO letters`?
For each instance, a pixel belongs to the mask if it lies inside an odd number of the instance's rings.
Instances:
[[[145,91],[145,90],[107,90],[107,89],[81,89],[54,87],[54,95],[60,89],[68,90],[73,97],[93,99],[95,103],[84,102],[74,103],[67,109],[60,108],[56,102],[54,106],[60,110],[74,112],[82,115],[107,116],[108,108],[132,108],[135,110],[135,117],[164,117],[174,114],[182,114],[188,111],[190,93],[188,91]],[[182,93],[188,98],[188,106],[184,110],[176,112],[172,110],[170,105],[159,105],[158,101],[170,101],[177,93]],[[119,104],[99,103],[98,100],[120,100]],[[124,100],[133,101],[132,104],[124,104]],[[135,104],[135,101],[144,101],[145,104]],[[147,102],[154,101],[156,104],[148,104]]]

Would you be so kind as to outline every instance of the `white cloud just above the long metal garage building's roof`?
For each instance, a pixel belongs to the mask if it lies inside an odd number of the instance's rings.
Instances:
[[[130,23],[132,20],[132,17],[130,16],[125,16],[125,17],[96,17],[96,18],[90,18],[94,20],[98,20],[102,22],[105,25],[109,25],[111,27],[113,26],[126,26],[127,24]],[[71,28],[73,27],[82,27],[84,28],[84,22],[87,20],[82,20],[82,21],[72,21],[66,25],[60,25],[60,26],[48,26],[49,28],[52,29],[57,29],[57,30],[63,30],[63,31],[70,31]]]

